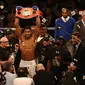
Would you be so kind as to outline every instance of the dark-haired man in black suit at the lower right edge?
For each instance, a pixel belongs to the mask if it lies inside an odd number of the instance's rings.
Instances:
[[[72,34],[72,43],[76,48],[74,53],[73,62],[70,64],[69,69],[74,71],[77,81],[80,85],[85,85],[85,44],[80,40],[80,33],[74,32]]]

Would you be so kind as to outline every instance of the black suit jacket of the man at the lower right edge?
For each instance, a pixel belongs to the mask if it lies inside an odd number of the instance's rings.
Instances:
[[[85,75],[85,45],[82,43],[80,43],[77,49],[75,59],[78,61],[75,63],[77,69],[74,71],[74,76],[76,76],[80,85],[85,85],[85,80],[83,80],[83,76]]]

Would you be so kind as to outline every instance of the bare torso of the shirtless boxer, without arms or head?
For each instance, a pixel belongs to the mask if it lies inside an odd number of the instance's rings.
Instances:
[[[36,40],[34,35],[28,40],[25,40],[22,36],[20,40],[21,59],[25,61],[33,60],[35,58],[35,47]]]

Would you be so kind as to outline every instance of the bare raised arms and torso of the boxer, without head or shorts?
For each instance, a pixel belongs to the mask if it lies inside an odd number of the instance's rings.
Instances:
[[[19,38],[19,46],[20,46],[20,51],[21,51],[21,59],[25,61],[31,61],[35,58],[35,47],[37,44],[37,37],[39,34],[39,29],[40,28],[40,18],[36,17],[36,26],[32,26],[33,28],[32,35],[30,38],[25,39],[22,32],[21,28],[19,26],[19,18],[15,18],[15,35]]]

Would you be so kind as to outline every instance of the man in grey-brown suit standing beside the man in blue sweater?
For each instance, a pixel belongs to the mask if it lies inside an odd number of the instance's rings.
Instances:
[[[81,40],[85,42],[85,10],[82,12],[81,20],[75,23],[74,31],[79,32]]]

